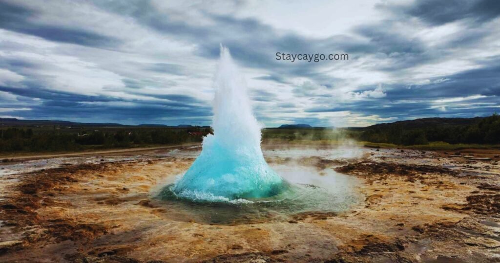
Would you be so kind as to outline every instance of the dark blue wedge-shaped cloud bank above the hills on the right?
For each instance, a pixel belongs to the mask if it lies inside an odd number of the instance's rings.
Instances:
[[[408,87],[388,85],[386,97],[367,100],[347,100],[335,106],[318,106],[309,113],[350,111],[383,117],[487,116],[500,106],[500,66],[489,65],[475,70],[446,76],[446,81]],[[324,101],[320,101],[324,103]],[[383,105],[383,106],[382,106]]]

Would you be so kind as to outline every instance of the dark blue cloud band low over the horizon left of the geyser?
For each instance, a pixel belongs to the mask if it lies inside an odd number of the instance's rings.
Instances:
[[[144,122],[161,122],[165,116],[206,117],[211,116],[211,107],[200,105],[196,98],[186,95],[157,95],[151,98],[162,98],[169,101],[123,100],[109,96],[88,96],[74,93],[47,90],[42,87],[11,88],[0,86],[0,91],[13,95],[38,98],[41,102],[25,103],[28,111],[16,111],[15,115],[31,119],[64,118],[84,119],[98,118],[107,121],[124,121],[132,124]],[[120,104],[123,103],[123,104]],[[128,105],[132,103],[133,105]],[[205,123],[206,124],[206,123]]]

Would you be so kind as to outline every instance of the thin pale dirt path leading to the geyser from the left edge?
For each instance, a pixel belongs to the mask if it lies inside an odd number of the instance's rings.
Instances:
[[[0,155],[0,159],[12,159],[12,160],[29,160],[29,159],[42,159],[42,158],[55,158],[55,157],[68,157],[68,156],[87,156],[87,155],[107,155],[115,153],[128,153],[128,152],[141,152],[150,150],[162,150],[171,149],[178,147],[189,147],[200,145],[199,142],[193,143],[183,143],[168,146],[155,146],[155,147],[140,147],[140,148],[127,148],[127,149],[111,149],[102,151],[85,151],[85,152],[72,152],[72,153],[57,153],[57,154],[36,154],[36,155]]]

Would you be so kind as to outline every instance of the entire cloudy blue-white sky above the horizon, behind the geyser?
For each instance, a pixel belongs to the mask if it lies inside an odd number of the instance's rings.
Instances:
[[[266,127],[500,112],[496,0],[0,0],[0,117],[208,125],[220,43]]]

